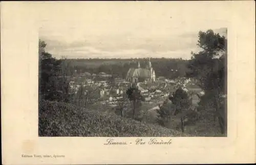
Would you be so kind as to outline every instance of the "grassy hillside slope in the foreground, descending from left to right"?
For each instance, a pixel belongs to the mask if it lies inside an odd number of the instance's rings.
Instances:
[[[158,125],[50,101],[39,104],[38,131],[39,136],[187,136]]]

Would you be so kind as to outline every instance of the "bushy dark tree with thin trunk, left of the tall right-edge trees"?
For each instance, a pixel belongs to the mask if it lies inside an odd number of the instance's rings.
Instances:
[[[169,97],[169,99],[175,105],[175,110],[172,115],[180,117],[181,130],[182,132],[184,132],[184,119],[189,111],[192,101],[189,98],[187,92],[184,91],[182,88],[178,88],[175,91],[173,97]]]

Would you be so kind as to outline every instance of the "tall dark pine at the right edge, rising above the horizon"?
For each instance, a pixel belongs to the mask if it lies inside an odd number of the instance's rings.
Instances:
[[[201,105],[211,104],[218,116],[221,133],[226,134],[227,112],[223,96],[226,96],[226,58],[227,40],[212,30],[199,32],[199,53],[191,52],[187,77],[196,78],[199,86],[205,91]]]

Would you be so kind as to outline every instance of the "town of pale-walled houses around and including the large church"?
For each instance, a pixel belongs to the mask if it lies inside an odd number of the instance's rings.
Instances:
[[[175,80],[167,80],[164,77],[156,78],[155,70],[150,59],[148,59],[145,68],[142,68],[138,62],[137,68],[130,68],[127,71],[125,78],[115,78],[114,82],[113,79],[111,81],[110,79],[112,79],[112,75],[103,72],[99,74],[90,74],[85,72],[76,76],[70,82],[70,88],[75,93],[81,86],[97,88],[95,94],[98,96],[100,103],[108,104],[114,107],[118,105],[118,102],[123,98],[127,88],[129,88],[132,84],[137,84],[146,103],[152,103],[151,101],[154,99],[165,100],[170,93],[170,90],[166,87],[166,84],[175,87],[182,86],[184,90],[187,90],[187,84],[194,84],[194,81],[187,78],[177,78]],[[165,86],[163,85],[163,87],[155,90],[150,88],[145,89],[140,86],[140,84],[146,84],[148,82],[160,82],[165,84]]]

